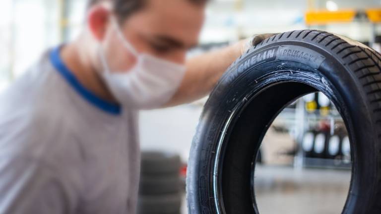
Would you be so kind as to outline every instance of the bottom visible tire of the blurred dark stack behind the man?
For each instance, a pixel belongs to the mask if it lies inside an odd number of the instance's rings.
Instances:
[[[179,214],[182,194],[160,196],[140,196],[138,199],[138,214]]]

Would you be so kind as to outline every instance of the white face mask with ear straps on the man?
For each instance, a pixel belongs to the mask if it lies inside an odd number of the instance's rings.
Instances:
[[[149,54],[140,54],[125,39],[116,20],[112,20],[118,37],[137,61],[128,71],[110,71],[104,50],[100,58],[106,85],[123,107],[152,109],[162,107],[170,101],[179,88],[186,67]]]

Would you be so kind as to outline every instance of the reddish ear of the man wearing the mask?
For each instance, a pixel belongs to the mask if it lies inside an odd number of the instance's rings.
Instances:
[[[95,5],[88,11],[87,25],[98,41],[103,40],[106,35],[110,14],[110,10],[102,4]]]

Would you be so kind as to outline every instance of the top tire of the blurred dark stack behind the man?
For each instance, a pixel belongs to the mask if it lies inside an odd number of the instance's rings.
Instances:
[[[145,175],[178,176],[180,173],[181,159],[179,155],[164,152],[142,152],[141,173]]]

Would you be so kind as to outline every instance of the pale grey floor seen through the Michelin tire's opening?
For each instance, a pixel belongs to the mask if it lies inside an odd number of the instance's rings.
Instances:
[[[255,195],[260,214],[340,214],[349,170],[257,166]],[[185,206],[184,206],[185,207]],[[183,214],[187,214],[184,208]]]

